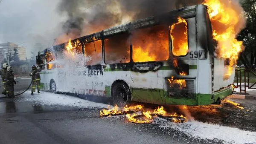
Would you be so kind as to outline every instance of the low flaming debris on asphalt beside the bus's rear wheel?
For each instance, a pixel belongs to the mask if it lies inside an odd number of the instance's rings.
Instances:
[[[142,105],[136,105],[134,107],[124,107],[123,110],[120,110],[117,105],[113,108],[108,107],[108,109],[102,109],[99,111],[100,116],[113,116],[113,115],[125,115],[128,118],[128,121],[132,123],[150,123],[154,116],[158,116],[160,118],[166,119],[172,122],[185,122],[187,119],[183,115],[177,115],[177,113],[173,115],[166,115],[166,111],[163,107],[158,107],[154,109],[154,112],[144,111]],[[141,113],[137,113],[137,112]]]

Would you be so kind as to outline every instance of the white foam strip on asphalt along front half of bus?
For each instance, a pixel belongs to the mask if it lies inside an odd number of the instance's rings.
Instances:
[[[81,98],[73,97],[70,95],[54,94],[51,92],[41,92],[38,94],[30,95],[30,92],[25,92],[23,98],[17,99],[17,101],[33,101],[40,102],[43,105],[64,105],[70,107],[107,107],[106,104],[96,103],[93,101],[87,101]]]

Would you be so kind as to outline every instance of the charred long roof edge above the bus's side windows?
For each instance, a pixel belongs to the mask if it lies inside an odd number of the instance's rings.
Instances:
[[[110,35],[114,35],[114,34],[117,34],[120,32],[127,32],[131,29],[139,29],[139,28],[143,28],[143,27],[159,25],[161,23],[172,23],[177,20],[177,16],[180,16],[185,19],[189,18],[189,17],[194,17],[196,15],[197,6],[198,5],[188,6],[188,7],[173,10],[173,11],[170,11],[165,14],[158,15],[158,16],[147,17],[145,19],[136,20],[136,21],[133,21],[130,23],[120,25],[120,26],[114,26],[112,28],[102,30],[101,32],[96,32],[91,35],[79,37],[79,38],[71,40],[71,41],[75,42],[76,40],[79,40],[79,41],[83,41],[85,43],[89,43],[89,42],[92,42],[95,40],[102,39],[103,37],[108,37]],[[65,46],[65,43],[61,43],[59,45],[53,46],[53,49],[55,49],[55,50],[63,49],[64,46]],[[50,50],[50,48],[47,48],[47,49]],[[47,49],[42,51],[42,53],[44,53]],[[38,55],[39,55],[39,52],[38,52]]]

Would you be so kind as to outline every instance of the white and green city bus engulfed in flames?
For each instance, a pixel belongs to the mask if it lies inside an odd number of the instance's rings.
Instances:
[[[214,56],[207,6],[196,5],[93,33],[38,52],[41,88],[169,105],[218,104],[234,69]]]

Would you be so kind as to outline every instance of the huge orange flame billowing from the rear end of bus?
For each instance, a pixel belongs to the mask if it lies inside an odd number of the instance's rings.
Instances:
[[[218,41],[217,54],[222,58],[229,58],[227,73],[230,76],[236,65],[239,53],[242,51],[242,42],[236,40],[236,35],[241,30],[244,21],[241,7],[237,10],[234,6],[239,3],[230,0],[205,0],[208,13],[212,23],[213,39]]]

